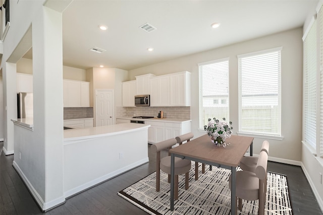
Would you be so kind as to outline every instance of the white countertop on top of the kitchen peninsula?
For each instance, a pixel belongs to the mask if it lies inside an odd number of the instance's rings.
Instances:
[[[129,131],[147,129],[150,125],[137,123],[124,123],[115,125],[97,126],[82,129],[66,129],[64,130],[64,141],[80,140],[88,138],[96,138],[101,136],[109,136],[127,133]]]

